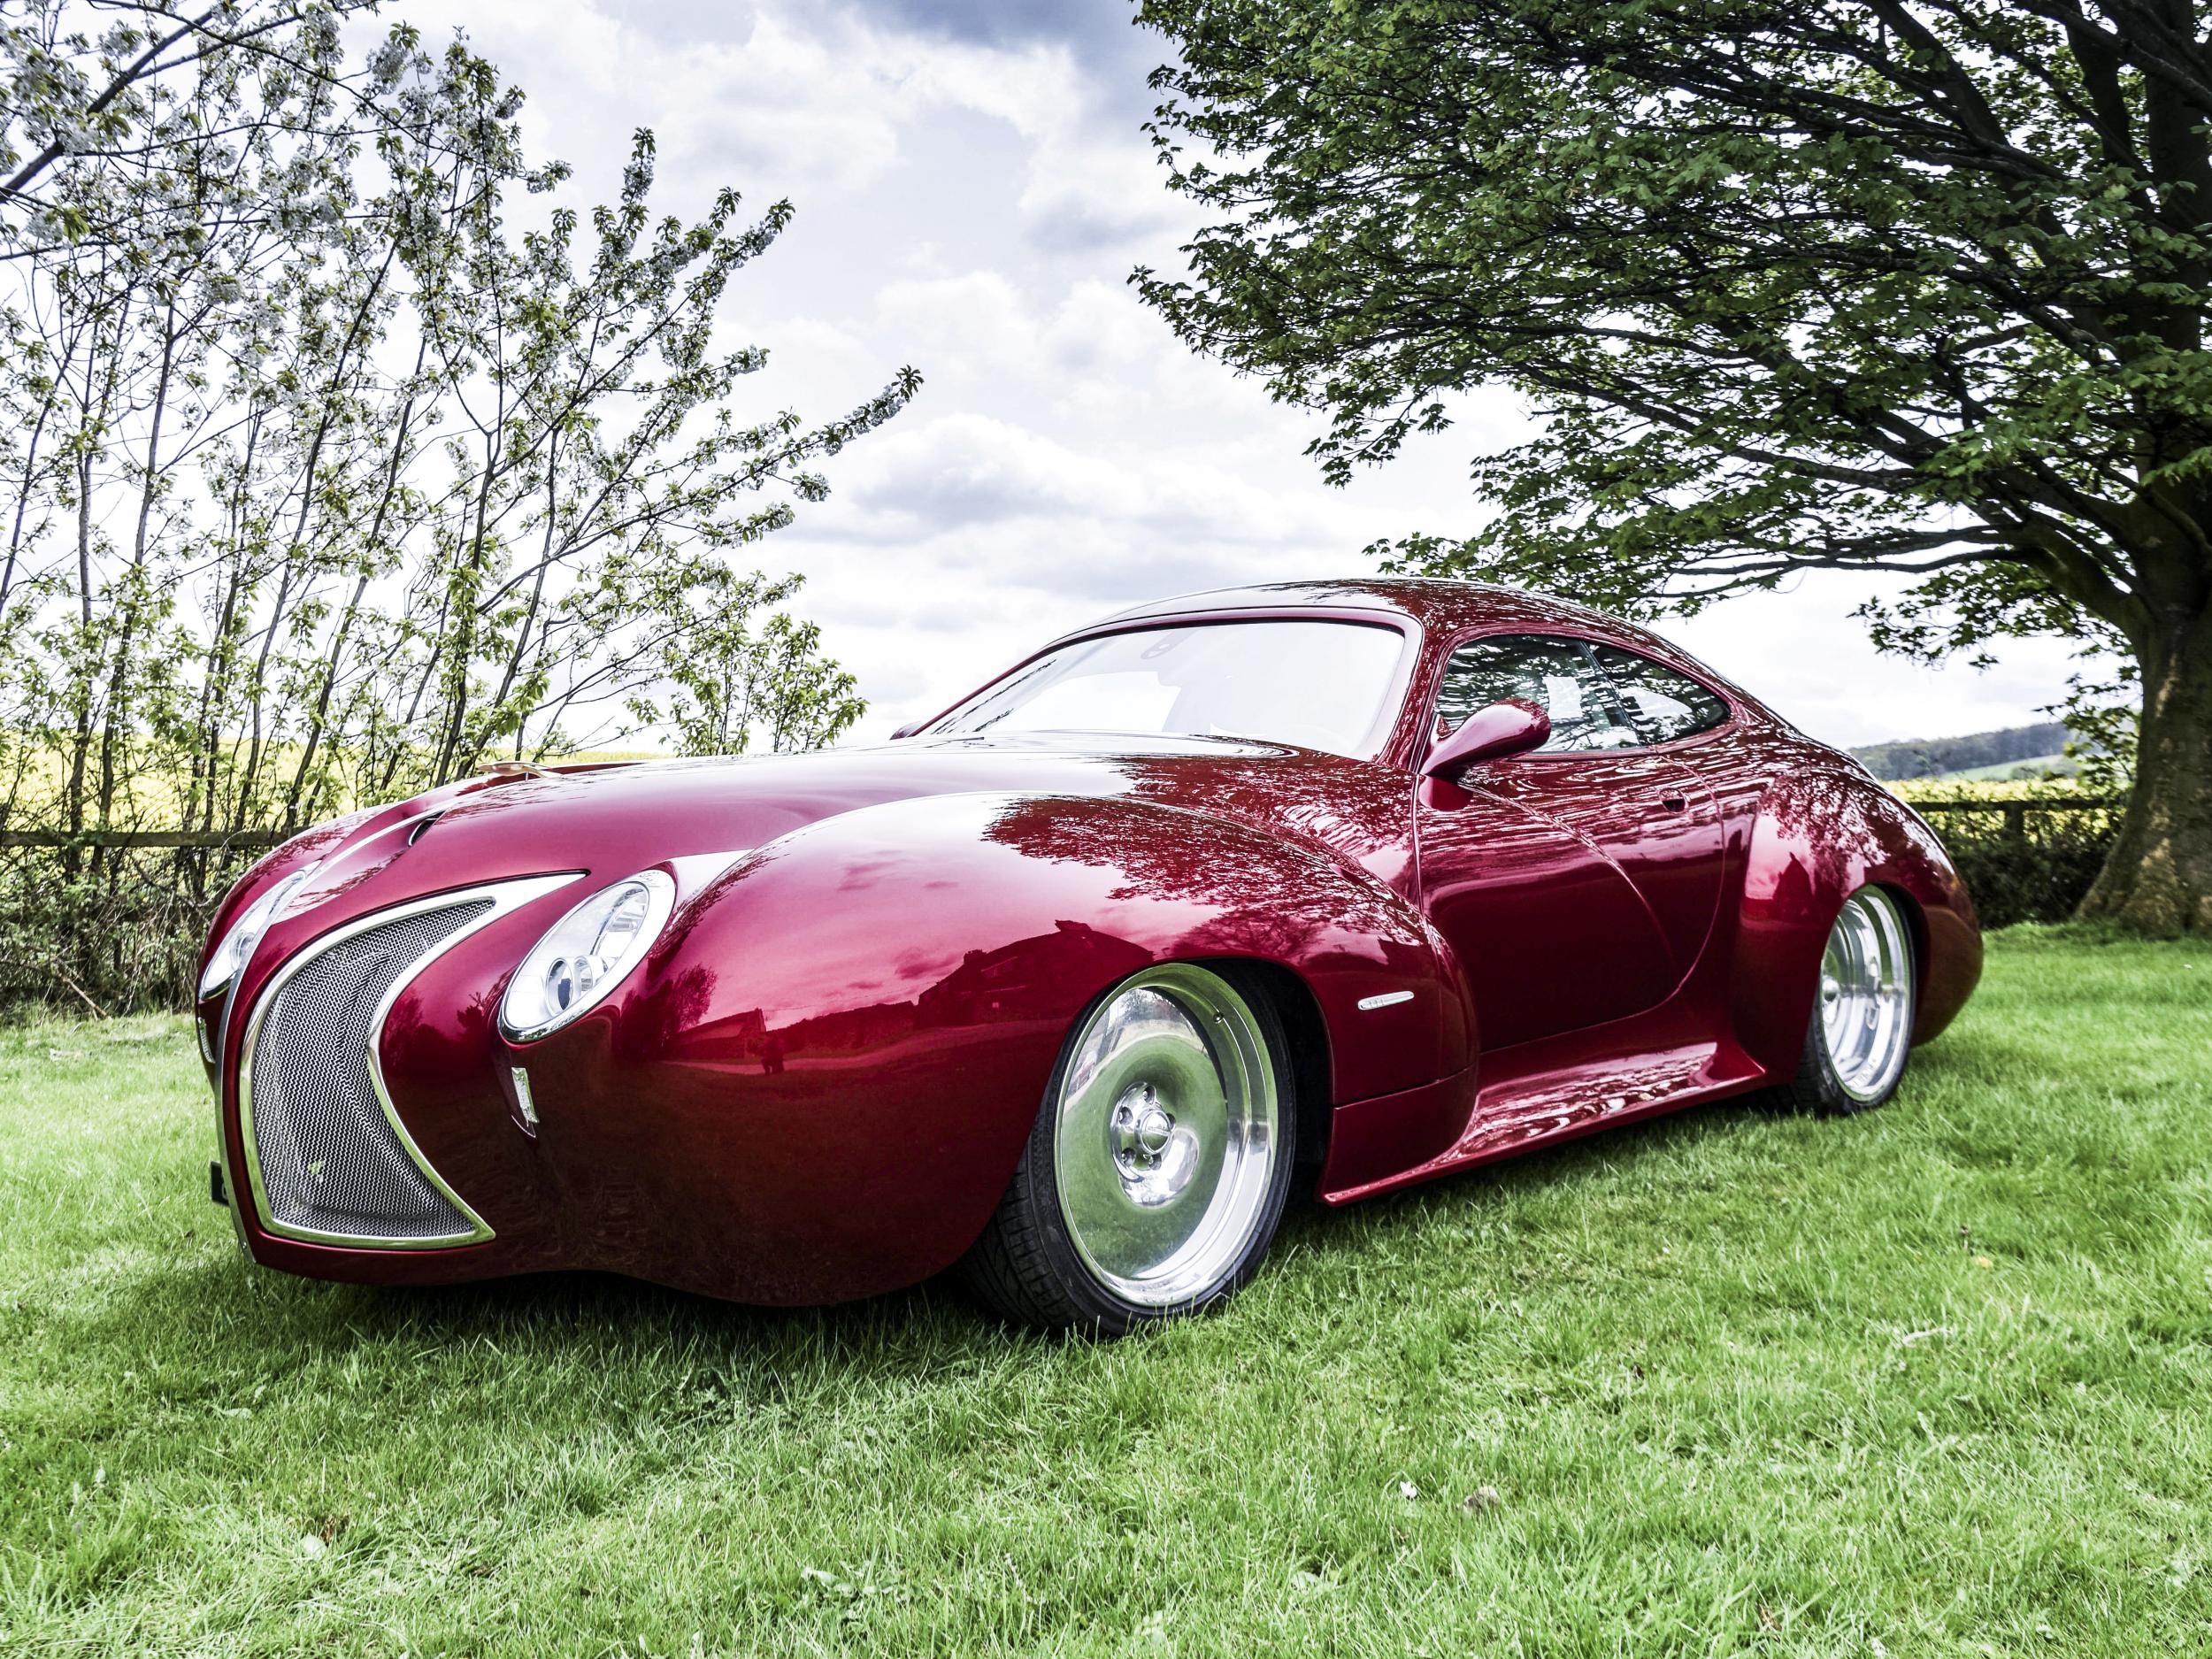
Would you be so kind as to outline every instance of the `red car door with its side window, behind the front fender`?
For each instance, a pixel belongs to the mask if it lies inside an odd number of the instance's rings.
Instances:
[[[1648,743],[1579,639],[1486,635],[1444,661],[1436,726],[1520,697],[1553,721],[1528,754],[1422,779],[1422,902],[1475,998],[1484,1048],[1641,1013],[1694,964],[1721,883],[1703,779]]]

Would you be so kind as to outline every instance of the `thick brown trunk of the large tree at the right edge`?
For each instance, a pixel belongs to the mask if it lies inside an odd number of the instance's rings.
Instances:
[[[2212,608],[2141,653],[2135,792],[2081,916],[2212,933]]]

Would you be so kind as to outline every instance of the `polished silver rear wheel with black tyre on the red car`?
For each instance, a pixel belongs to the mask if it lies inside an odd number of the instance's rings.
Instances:
[[[1805,1053],[1783,1093],[1820,1113],[1874,1110],[1898,1093],[1911,1046],[1911,936],[1898,900],[1860,887],[1827,933]]]

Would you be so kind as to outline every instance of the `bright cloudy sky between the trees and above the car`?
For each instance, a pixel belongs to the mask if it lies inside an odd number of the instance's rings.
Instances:
[[[772,365],[741,414],[823,418],[902,363],[927,380],[830,467],[834,495],[761,546],[807,573],[799,606],[883,737],[1029,646],[1124,604],[1367,568],[1407,531],[1464,533],[1467,456],[1513,438],[1511,398],[1352,489],[1303,458],[1314,416],[1192,358],[1130,296],[1194,223],[1139,122],[1164,42],[1126,0],[403,0],[529,91],[568,197],[615,190],[628,135],[659,137],[657,201],[790,197],[785,239],[732,288]],[[1840,743],[2037,719],[2057,646],[1986,672],[1876,657],[1847,580],[1732,602],[1670,633]]]

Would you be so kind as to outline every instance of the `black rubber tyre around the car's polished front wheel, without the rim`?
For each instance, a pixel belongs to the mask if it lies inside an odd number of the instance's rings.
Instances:
[[[1252,1279],[1267,1254],[1276,1223],[1283,1219],[1298,1152],[1296,1073],[1283,1020],[1256,975],[1241,973],[1234,967],[1166,967],[1186,973],[1194,971],[1230,987],[1237,1002],[1252,1015],[1250,1035],[1256,1037],[1256,1048],[1272,1073],[1272,1097],[1276,1102],[1272,1121],[1274,1150],[1259,1208],[1252,1212],[1250,1230],[1243,1234],[1243,1245],[1234,1250],[1234,1256],[1219,1272],[1210,1274],[1208,1283],[1192,1287],[1190,1294],[1179,1294],[1170,1303],[1144,1303],[1124,1296],[1093,1272],[1071,1234],[1062,1206],[1057,1159],[1062,1088],[1068,1082],[1068,1068],[1086,1033],[1093,1031],[1102,1013],[1117,998],[1133,987],[1144,989],[1148,975],[1157,971],[1146,969],[1097,998],[1068,1029],[1013,1181],[1006,1186],[982,1237],[960,1263],[969,1290],[1009,1321],[1042,1329],[1126,1336],[1144,1325],[1217,1307]]]

